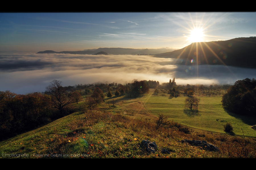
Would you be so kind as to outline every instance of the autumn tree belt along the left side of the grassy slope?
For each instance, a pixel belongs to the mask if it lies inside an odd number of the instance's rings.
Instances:
[[[9,90],[0,91],[0,140],[73,113],[75,108],[71,103],[85,100],[87,109],[93,109],[103,102],[107,91],[110,92],[108,97],[112,97],[112,90],[115,90],[115,96],[127,94],[130,97],[137,97],[149,91],[149,83],[146,80],[138,81],[137,79],[126,85],[90,84],[86,88],[80,85],[79,90],[77,87],[62,86],[61,81],[53,80],[43,93],[34,92],[23,95]],[[81,88],[84,89],[81,90]]]

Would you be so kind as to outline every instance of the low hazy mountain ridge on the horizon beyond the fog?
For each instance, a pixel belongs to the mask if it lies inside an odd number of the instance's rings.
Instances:
[[[112,54],[112,55],[136,55],[136,54],[159,54],[159,53],[166,53],[170,51],[174,51],[174,49],[133,49],[133,48],[98,48],[98,49],[87,49],[84,51],[40,51],[37,54],[44,54],[44,53],[64,53],[64,54],[96,54],[101,51],[105,53]]]

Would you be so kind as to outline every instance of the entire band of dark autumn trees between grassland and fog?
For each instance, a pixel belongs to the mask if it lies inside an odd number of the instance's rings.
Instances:
[[[108,100],[108,104],[117,102],[115,97],[126,95],[136,98],[149,92],[149,88],[155,88],[154,94],[169,94],[170,97],[186,95],[190,98],[185,103],[196,108],[199,100],[193,98],[198,96],[223,95],[222,103],[224,108],[232,112],[253,112],[255,113],[256,88],[255,79],[239,80],[234,86],[231,85],[177,85],[175,78],[169,82],[159,84],[154,80],[134,79],[131,83],[97,83],[76,86],[62,86],[59,80],[53,80],[46,87],[45,92],[34,92],[21,95],[9,90],[0,91],[0,140],[20,134],[26,130],[34,129],[38,126],[51,122],[75,111],[71,103],[83,104],[86,109],[94,109],[98,104]],[[218,91],[220,91],[218,93]],[[113,97],[115,96],[115,97]]]

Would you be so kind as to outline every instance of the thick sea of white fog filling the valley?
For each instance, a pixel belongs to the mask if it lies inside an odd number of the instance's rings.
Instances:
[[[160,84],[175,77],[179,84],[234,84],[255,78],[256,69],[224,65],[178,65],[173,59],[148,55],[0,54],[0,91],[16,94],[44,92],[56,79],[63,86],[129,83],[133,79]]]

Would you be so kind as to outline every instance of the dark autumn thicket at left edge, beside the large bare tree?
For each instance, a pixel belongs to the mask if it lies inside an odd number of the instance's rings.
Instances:
[[[51,108],[41,93],[0,92],[0,140],[48,122]]]

